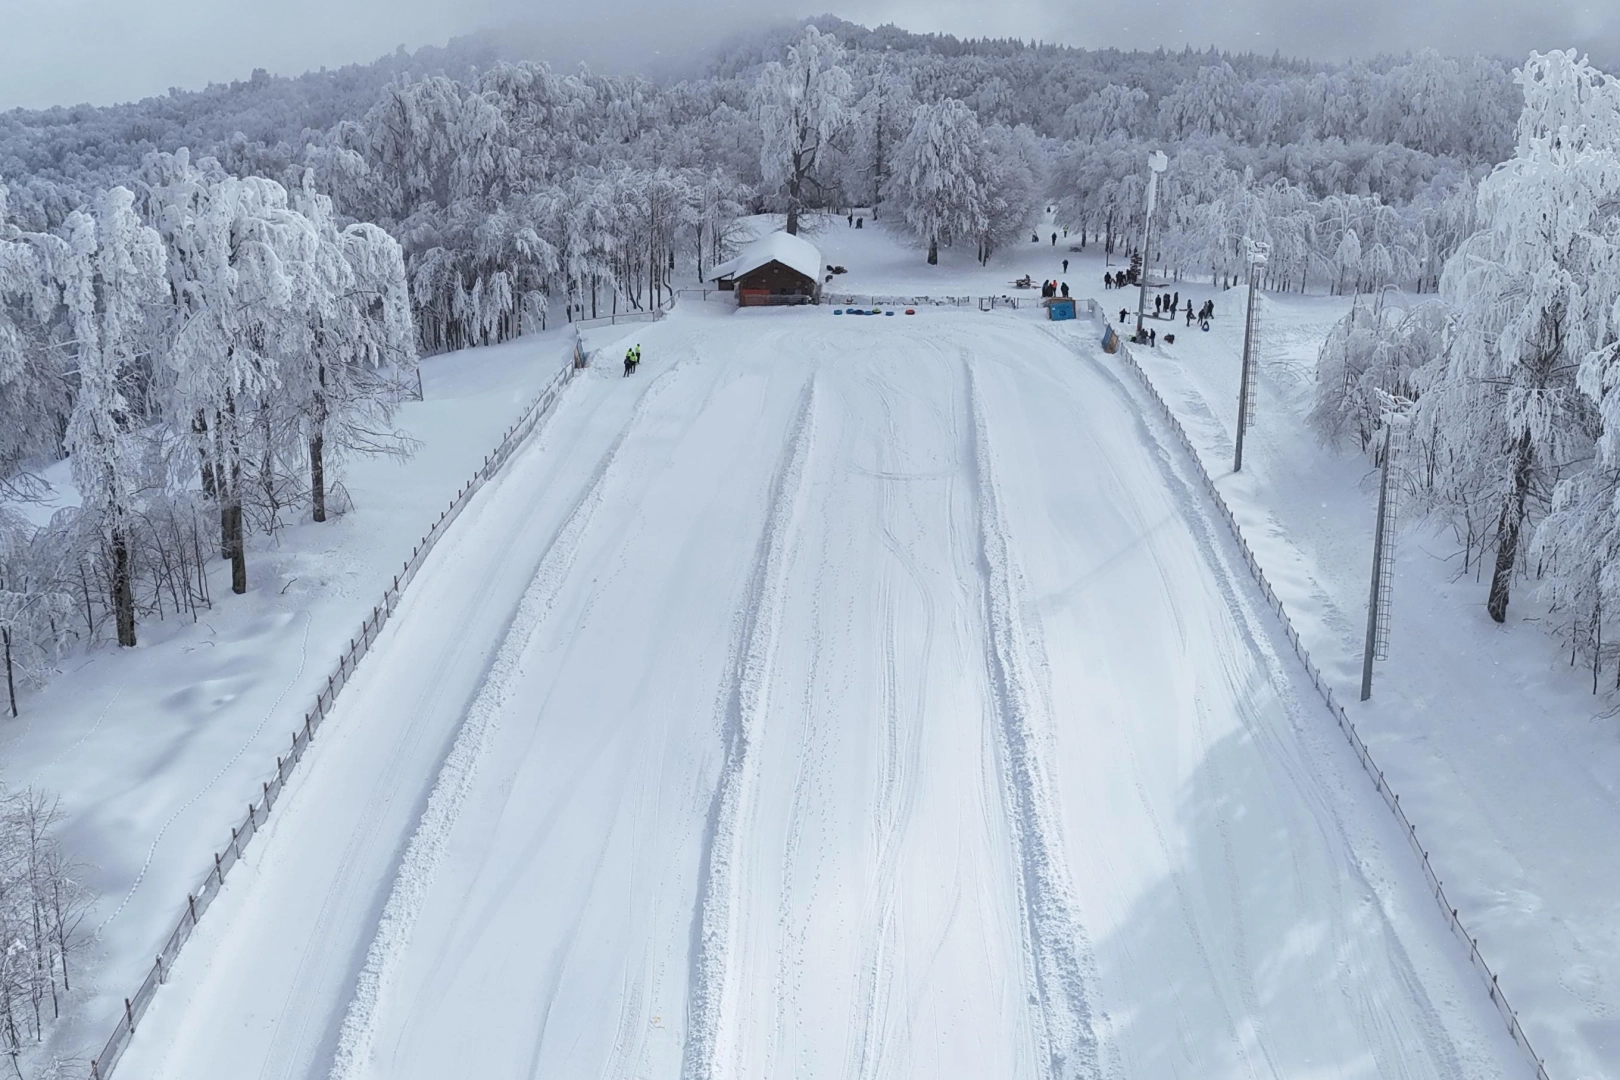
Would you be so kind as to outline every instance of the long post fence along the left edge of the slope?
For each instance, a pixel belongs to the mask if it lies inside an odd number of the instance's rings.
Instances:
[[[394,615],[405,589],[416,578],[416,573],[428,560],[428,555],[433,554],[433,549],[449,531],[450,525],[454,525],[462,515],[462,510],[467,508],[467,504],[471,502],[473,495],[476,495],[484,484],[501,473],[505,463],[512,460],[512,455],[517,453],[518,447],[551,413],[557,398],[562,395],[562,390],[573,381],[573,376],[583,366],[583,347],[578,335],[575,335],[567,366],[564,366],[535,397],[535,400],[528,403],[518,419],[507,427],[499,445],[496,445],[496,449],[484,457],[484,463],[476,473],[473,473],[471,479],[468,479],[467,484],[455,492],[449,507],[439,512],[439,518],[433,523],[426,534],[423,534],[416,547],[411,549],[410,559],[405,560],[400,573],[394,576],[392,585],[382,591],[382,599],[371,609],[371,615],[368,615],[361,623],[360,631],[350,638],[348,648],[337,657],[332,674],[326,677],[326,685],[319,690],[319,693],[316,693],[314,704],[308,712],[305,712],[303,722],[293,729],[292,737],[288,738],[287,753],[275,758],[274,776],[261,784],[259,798],[248,803],[248,810],[241,821],[230,829],[230,840],[214,855],[214,863],[204,873],[196,891],[186,895],[185,907],[180,908],[180,916],[175,920],[175,928],[164,941],[162,949],[159,949],[151,970],[146,973],[146,980],[133,996],[123,999],[123,1014],[118,1017],[118,1022],[113,1027],[113,1031],[107,1036],[107,1043],[102,1046],[100,1052],[91,1059],[89,1075],[92,1080],[107,1080],[107,1077],[112,1075],[118,1059],[123,1056],[123,1051],[130,1046],[130,1040],[134,1038],[141,1017],[157,996],[157,989],[168,978],[168,972],[173,967],[175,959],[196,931],[198,920],[202,918],[202,913],[207,912],[207,908],[219,897],[219,892],[225,884],[225,878],[237,866],[237,863],[241,861],[243,850],[246,850],[253,837],[258,836],[259,829],[262,829],[269,821],[271,811],[275,808],[275,803],[282,795],[282,789],[292,777],[293,769],[298,767],[298,763],[303,761],[305,753],[314,742],[316,732],[321,730],[321,724],[332,711],[339,693],[342,693],[343,687],[348,685],[348,680],[353,678],[360,661],[382,633],[382,627],[387,625],[389,619]]]

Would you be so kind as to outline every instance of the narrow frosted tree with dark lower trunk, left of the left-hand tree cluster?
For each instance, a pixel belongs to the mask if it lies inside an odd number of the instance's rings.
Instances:
[[[144,487],[141,426],[131,398],[152,347],[164,295],[164,244],[141,223],[134,194],[113,188],[94,214],[68,219],[63,303],[75,334],[78,395],[66,447],[84,510],[107,542],[118,644],[134,644],[131,531]]]

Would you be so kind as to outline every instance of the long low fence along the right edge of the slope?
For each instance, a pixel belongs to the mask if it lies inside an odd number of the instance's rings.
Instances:
[[[1106,316],[1102,314],[1102,308],[1095,300],[1084,300],[1081,303],[1087,304],[1089,314],[1095,325],[1105,329],[1108,327],[1108,319]],[[1249,547],[1249,541],[1243,534],[1243,528],[1238,525],[1236,515],[1233,515],[1231,507],[1226,505],[1226,497],[1221,495],[1220,487],[1215,486],[1215,478],[1210,476],[1210,471],[1204,466],[1204,460],[1199,457],[1197,449],[1192,445],[1192,439],[1187,436],[1186,427],[1183,427],[1181,419],[1174,415],[1174,411],[1170,408],[1165,398],[1158,393],[1158,389],[1153,387],[1153,381],[1149,379],[1147,371],[1144,371],[1142,366],[1136,361],[1136,356],[1131,355],[1131,348],[1129,345],[1126,345],[1123,338],[1119,342],[1118,356],[1124,359],[1124,366],[1136,377],[1140,389],[1158,406],[1162,419],[1170,427],[1170,431],[1174,432],[1176,439],[1181,444],[1181,449],[1192,461],[1192,468],[1197,473],[1199,479],[1202,479],[1205,492],[1220,508],[1220,513],[1226,520],[1226,525],[1230,526],[1233,538],[1238,541],[1238,549],[1243,552],[1244,562],[1249,565],[1249,573],[1254,575],[1256,583],[1260,586],[1260,593],[1265,594],[1265,602],[1272,606],[1272,612],[1281,620],[1283,633],[1288,638],[1288,643],[1294,648],[1294,654],[1299,657],[1299,662],[1304,664],[1306,674],[1311,675],[1311,683],[1315,687],[1317,693],[1327,703],[1328,711],[1338,721],[1338,727],[1345,733],[1345,738],[1349,740],[1349,745],[1354,748],[1356,758],[1361,761],[1361,767],[1366,769],[1369,777],[1372,777],[1372,782],[1377,787],[1379,795],[1383,798],[1383,805],[1388,806],[1390,813],[1395,814],[1395,819],[1400,823],[1401,831],[1406,834],[1406,842],[1411,844],[1413,852],[1422,863],[1422,874],[1424,881],[1429,886],[1429,894],[1434,897],[1435,904],[1440,905],[1440,912],[1445,916],[1452,933],[1464,946],[1468,946],[1468,963],[1474,970],[1474,973],[1479,975],[1479,978],[1484,981],[1486,991],[1490,994],[1490,1004],[1495,1006],[1497,1014],[1502,1017],[1502,1022],[1507,1023],[1508,1035],[1520,1048],[1523,1048],[1524,1054],[1529,1057],[1529,1062],[1536,1067],[1536,1080],[1552,1080],[1547,1072],[1545,1062],[1536,1054],[1534,1048],[1529,1043],[1529,1036],[1524,1033],[1523,1025],[1520,1025],[1518,1012],[1515,1012],[1515,1009],[1508,1004],[1507,994],[1502,991],[1502,986],[1497,980],[1497,973],[1490,968],[1490,965],[1486,962],[1486,957],[1479,952],[1479,939],[1474,934],[1468,933],[1468,926],[1463,925],[1463,918],[1458,915],[1456,905],[1453,905],[1452,900],[1447,897],[1445,886],[1440,882],[1440,878],[1434,871],[1434,865],[1429,861],[1429,848],[1424,847],[1422,840],[1418,836],[1418,826],[1411,823],[1411,818],[1408,818],[1406,811],[1401,808],[1401,797],[1396,795],[1395,790],[1390,787],[1390,782],[1383,776],[1383,769],[1377,766],[1377,763],[1372,758],[1372,751],[1367,750],[1367,743],[1361,738],[1361,732],[1356,730],[1354,721],[1351,721],[1349,714],[1345,712],[1345,706],[1340,704],[1338,695],[1333,693],[1333,687],[1328,685],[1328,680],[1322,675],[1322,669],[1317,667],[1317,662],[1315,659],[1312,659],[1311,651],[1301,641],[1299,631],[1294,628],[1293,619],[1290,619],[1288,615],[1288,609],[1283,606],[1283,601],[1278,599],[1277,591],[1272,588],[1272,583],[1265,576],[1265,570],[1260,568],[1260,562],[1254,557],[1254,551]]]

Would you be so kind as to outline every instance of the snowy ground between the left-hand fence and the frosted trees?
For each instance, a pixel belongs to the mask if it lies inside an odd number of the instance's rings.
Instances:
[[[49,1049],[100,1048],[318,683],[570,340],[557,330],[424,363],[426,400],[400,411],[420,450],[408,463],[348,463],[352,513],[254,544],[246,596],[215,563],[199,622],[146,622],[136,649],[71,657],[19,719],[0,722],[0,782],[62,797],[65,847],[99,897],[75,973],[86,997],[68,1002]],[[76,500],[65,465],[47,478],[55,505]]]

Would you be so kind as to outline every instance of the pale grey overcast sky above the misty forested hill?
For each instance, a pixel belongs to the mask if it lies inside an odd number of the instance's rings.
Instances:
[[[875,26],[1072,45],[1217,45],[1343,58],[1578,47],[1620,58],[1620,0],[0,0],[0,108],[113,102],[374,60],[395,45],[514,19],[554,28],[552,52],[633,68],[739,18],[831,10]],[[630,39],[625,28],[633,28]]]

